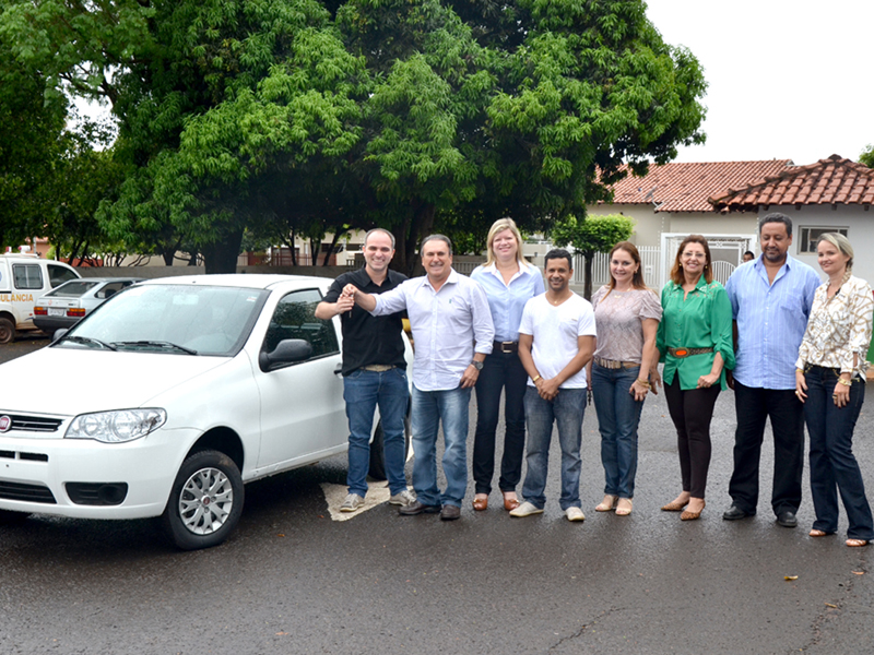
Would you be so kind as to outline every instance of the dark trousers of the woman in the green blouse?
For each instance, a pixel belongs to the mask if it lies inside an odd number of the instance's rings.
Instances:
[[[680,374],[664,388],[668,410],[676,428],[680,453],[680,475],[683,491],[693,498],[704,498],[707,473],[710,469],[710,420],[721,391],[717,384],[707,389],[680,389]]]

